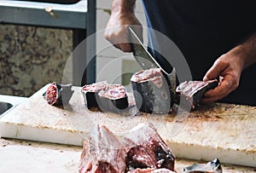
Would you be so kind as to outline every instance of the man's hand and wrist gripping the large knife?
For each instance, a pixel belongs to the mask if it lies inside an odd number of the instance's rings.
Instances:
[[[104,37],[124,52],[131,52],[128,26],[133,26],[137,35],[143,37],[143,28],[134,14],[134,6],[135,0],[113,0],[112,13],[104,32]]]

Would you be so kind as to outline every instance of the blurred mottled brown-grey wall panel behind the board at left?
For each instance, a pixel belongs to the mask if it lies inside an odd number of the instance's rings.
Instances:
[[[69,30],[0,25],[0,94],[30,96],[61,82],[72,39]]]

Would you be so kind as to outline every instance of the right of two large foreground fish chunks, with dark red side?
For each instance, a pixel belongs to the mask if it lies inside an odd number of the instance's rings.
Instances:
[[[140,124],[125,136],[126,170],[166,168],[174,171],[175,156],[153,124]]]

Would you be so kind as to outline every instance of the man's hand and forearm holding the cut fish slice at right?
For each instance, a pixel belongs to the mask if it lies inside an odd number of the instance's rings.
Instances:
[[[205,94],[203,101],[218,101],[229,95],[238,87],[242,70],[254,62],[256,62],[256,34],[249,37],[246,42],[221,55],[214,62],[203,80],[221,77],[221,82],[218,87]]]

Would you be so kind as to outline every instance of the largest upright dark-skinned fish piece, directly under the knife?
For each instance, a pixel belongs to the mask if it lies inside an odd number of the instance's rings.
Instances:
[[[136,72],[131,77],[137,109],[142,112],[167,113],[174,102],[171,81],[160,68]]]

